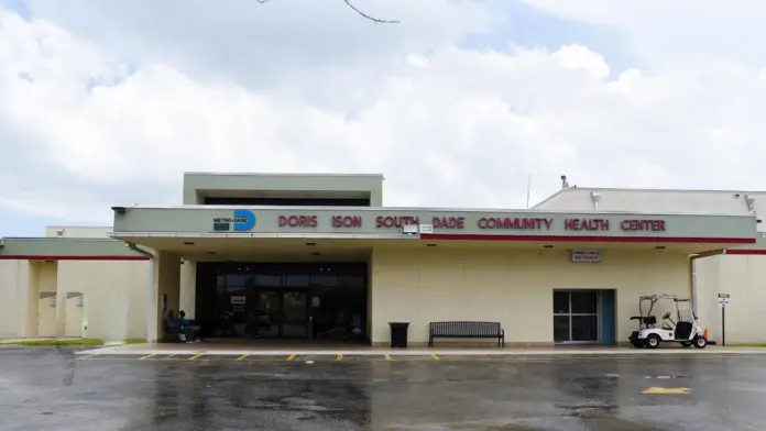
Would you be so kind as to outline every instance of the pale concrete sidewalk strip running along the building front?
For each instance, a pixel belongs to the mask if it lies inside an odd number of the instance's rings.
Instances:
[[[78,355],[216,355],[216,356],[571,356],[571,355],[766,355],[766,349],[716,347],[703,350],[685,347],[631,349],[631,347],[552,347],[552,349],[300,349],[284,346],[280,349],[247,349],[237,346],[226,349],[219,345],[195,344],[130,344],[105,346],[77,352]]]

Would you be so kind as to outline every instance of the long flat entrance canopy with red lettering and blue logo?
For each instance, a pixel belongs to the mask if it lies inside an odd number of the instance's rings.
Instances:
[[[754,216],[221,206],[113,210],[113,237],[200,259],[325,261],[358,258],[373,247],[429,245],[692,254],[756,241]]]

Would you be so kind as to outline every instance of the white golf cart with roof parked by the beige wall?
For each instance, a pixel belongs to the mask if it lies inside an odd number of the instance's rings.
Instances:
[[[660,300],[674,302],[676,320],[671,312],[663,316],[663,323],[657,328],[657,318],[652,316],[655,303]],[[644,309],[648,308],[646,314]],[[628,340],[634,347],[657,349],[661,343],[680,343],[685,347],[704,349],[708,345],[708,330],[700,328],[697,316],[691,309],[691,299],[675,295],[647,295],[638,298],[638,312],[631,320],[638,320],[638,330],[633,331]],[[670,322],[670,324],[668,324]]]

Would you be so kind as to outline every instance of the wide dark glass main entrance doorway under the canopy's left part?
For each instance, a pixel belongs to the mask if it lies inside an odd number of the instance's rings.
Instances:
[[[366,301],[365,263],[197,264],[209,338],[366,340]]]

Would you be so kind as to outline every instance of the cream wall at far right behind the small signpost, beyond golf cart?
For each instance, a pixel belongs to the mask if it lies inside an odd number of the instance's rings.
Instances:
[[[726,308],[726,344],[766,343],[766,256],[716,255],[696,263],[699,317],[721,342],[718,294],[731,295]]]

